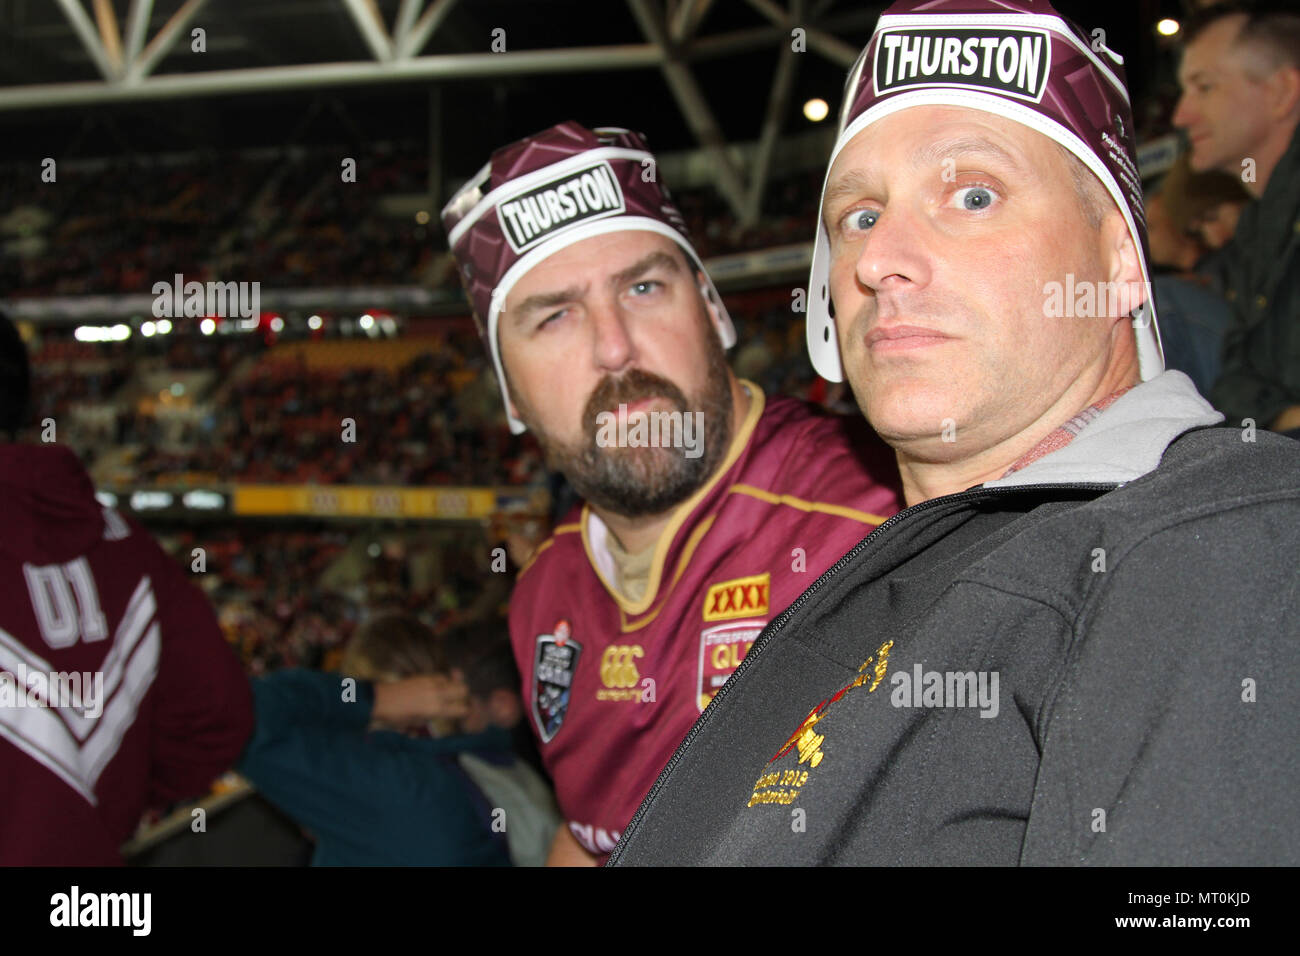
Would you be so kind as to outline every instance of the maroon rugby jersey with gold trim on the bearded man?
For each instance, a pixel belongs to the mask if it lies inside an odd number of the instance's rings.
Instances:
[[[763,630],[900,509],[862,419],[751,395],[714,477],[679,506],[642,600],[612,587],[608,533],[575,510],[519,574],[510,631],[560,812],[598,858]]]

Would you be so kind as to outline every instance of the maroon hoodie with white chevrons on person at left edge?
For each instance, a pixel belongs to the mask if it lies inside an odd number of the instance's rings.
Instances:
[[[0,444],[0,865],[121,864],[252,731],[186,572],[57,445]]]

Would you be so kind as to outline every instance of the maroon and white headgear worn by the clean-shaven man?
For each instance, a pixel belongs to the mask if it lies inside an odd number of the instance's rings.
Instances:
[[[880,14],[849,72],[840,134],[827,164],[878,120],[909,107],[967,107],[1024,124],[1092,170],[1124,216],[1147,281],[1134,311],[1143,381],[1165,369],[1150,300],[1147,219],[1134,161],[1132,111],[1123,57],[1089,38],[1046,0],[900,0]],[[826,186],[822,187],[823,203]],[[809,284],[812,367],[842,381],[831,297],[831,239],[818,222]]]

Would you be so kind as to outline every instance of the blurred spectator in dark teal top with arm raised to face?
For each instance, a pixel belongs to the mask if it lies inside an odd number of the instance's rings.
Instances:
[[[497,800],[511,783],[528,799],[538,790],[519,783],[530,771],[511,753],[517,700],[471,663],[476,685],[450,676],[419,620],[373,618],[344,658],[351,680],[286,670],[254,682],[257,726],[238,770],[315,834],[316,866],[510,865],[511,827],[523,836],[529,814],[515,795]]]

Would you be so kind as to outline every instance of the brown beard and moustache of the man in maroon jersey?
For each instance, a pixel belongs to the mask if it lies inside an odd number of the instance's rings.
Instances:
[[[727,356],[712,330],[706,342],[708,371],[703,394],[694,408],[689,407],[681,389],[667,378],[633,368],[621,376],[607,376],[592,393],[582,411],[585,437],[580,444],[555,441],[529,421],[546,453],[547,466],[564,472],[573,490],[590,505],[624,518],[656,515],[689,498],[714,473],[731,445],[733,402]],[[703,428],[697,434],[701,444],[697,458],[688,458],[681,447],[601,447],[601,412],[619,416],[620,405],[644,398],[667,398],[671,411],[680,412],[682,421],[696,411],[703,414]],[[651,414],[646,408],[627,415],[628,429],[632,429],[637,416],[645,415],[646,432],[654,434],[659,429],[654,428],[654,419],[649,418]]]

